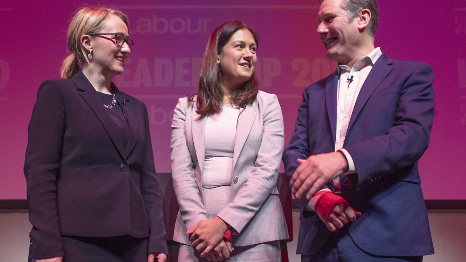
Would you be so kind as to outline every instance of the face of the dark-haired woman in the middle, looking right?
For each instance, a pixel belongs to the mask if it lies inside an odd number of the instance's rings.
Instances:
[[[251,78],[257,61],[256,48],[248,29],[239,29],[232,35],[217,57],[222,88],[234,90]]]

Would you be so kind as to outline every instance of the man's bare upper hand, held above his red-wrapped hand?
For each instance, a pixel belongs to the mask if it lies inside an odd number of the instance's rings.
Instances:
[[[291,192],[301,198],[306,191],[309,200],[322,186],[348,170],[348,161],[342,152],[312,155],[308,159],[298,159],[300,164],[291,177]]]

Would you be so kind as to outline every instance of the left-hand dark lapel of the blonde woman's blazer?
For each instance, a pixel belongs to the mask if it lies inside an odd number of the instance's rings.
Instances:
[[[109,134],[113,145],[115,145],[120,155],[123,157],[123,159],[126,159],[117,124],[115,124],[115,122],[113,122],[113,120],[106,114],[105,110],[108,109],[103,107],[102,100],[97,95],[97,92],[92,84],[89,83],[88,79],[81,71],[73,76],[71,80],[75,83],[78,90],[83,91],[80,92],[79,95],[89,105],[94,114],[96,114],[96,117],[99,119],[100,123],[102,123],[103,127]]]

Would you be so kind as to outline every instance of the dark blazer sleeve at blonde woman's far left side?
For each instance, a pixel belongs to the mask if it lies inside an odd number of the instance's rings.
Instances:
[[[57,177],[65,131],[65,107],[57,83],[45,81],[37,92],[24,162],[31,230],[30,258],[62,256],[57,211]]]

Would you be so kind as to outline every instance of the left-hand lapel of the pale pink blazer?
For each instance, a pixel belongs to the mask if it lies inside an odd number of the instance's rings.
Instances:
[[[204,171],[204,159],[206,156],[206,144],[205,144],[205,133],[206,133],[206,119],[207,117],[202,117],[196,113],[197,107],[196,102],[193,102],[191,114],[191,124],[192,124],[192,141],[194,144],[194,149],[196,152],[196,157],[198,158],[199,169],[201,172]]]

